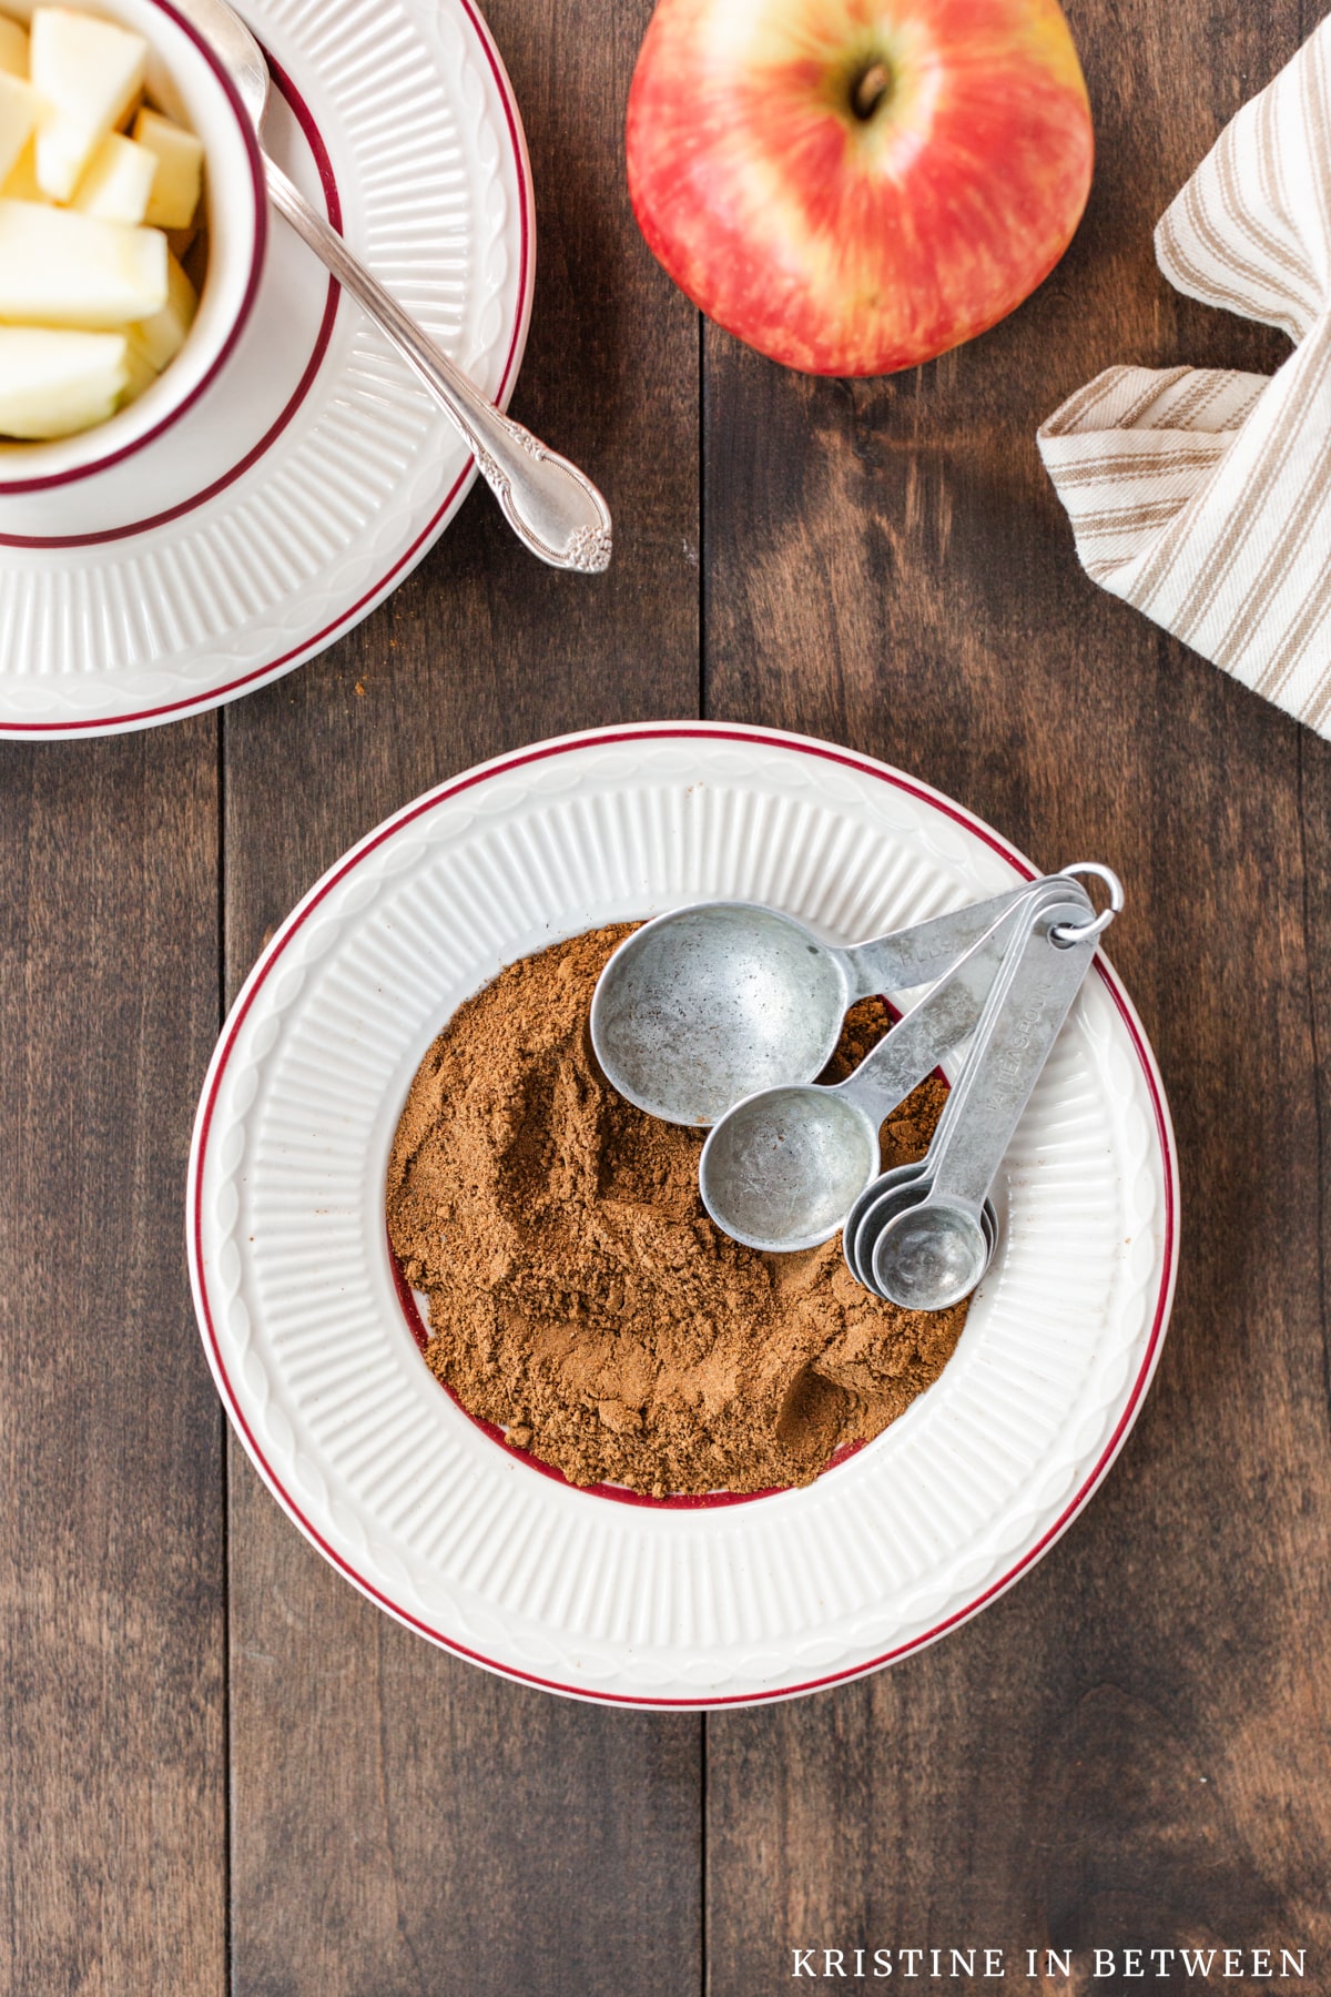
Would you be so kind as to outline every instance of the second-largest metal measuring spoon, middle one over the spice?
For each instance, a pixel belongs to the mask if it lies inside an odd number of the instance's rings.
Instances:
[[[844,1082],[762,1088],[726,1110],[698,1158],[702,1204],[716,1226],[750,1248],[782,1252],[836,1234],[878,1174],[884,1118],[976,1030],[1014,929],[1046,909],[1060,921],[1094,917],[1074,881],[1030,883]]]

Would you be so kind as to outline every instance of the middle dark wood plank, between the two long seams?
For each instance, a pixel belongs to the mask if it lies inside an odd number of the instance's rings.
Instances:
[[[617,521],[601,581],[541,569],[485,491],[361,631],[225,721],[231,991],[387,811],[473,759],[696,713],[696,318],[613,162],[647,0],[489,22],[533,152],[515,413]],[[363,687],[363,693],[355,689]],[[698,1985],[700,1727],[579,1707],[369,1608],[231,1450],[233,1975],[241,1993],[682,1997]]]

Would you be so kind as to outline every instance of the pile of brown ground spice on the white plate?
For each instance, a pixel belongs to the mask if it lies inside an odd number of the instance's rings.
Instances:
[[[429,1296],[425,1358],[573,1484],[808,1484],[938,1378],[966,1304],[896,1310],[850,1276],[840,1236],[758,1254],[708,1220],[702,1132],[633,1108],[591,1050],[593,989],[631,929],[509,965],[417,1070],[387,1220]],[[858,1004],[826,1078],[886,1026],[880,1000]],[[884,1126],[884,1166],[924,1152],[944,1096],[916,1088]]]

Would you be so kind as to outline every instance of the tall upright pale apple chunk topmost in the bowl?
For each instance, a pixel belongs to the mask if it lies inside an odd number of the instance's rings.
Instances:
[[[38,128],[38,180],[68,202],[98,142],[144,88],[148,44],[96,14],[40,6],[32,16],[30,74],[46,98]]]

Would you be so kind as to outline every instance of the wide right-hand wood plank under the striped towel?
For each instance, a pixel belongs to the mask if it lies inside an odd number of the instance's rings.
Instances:
[[[1325,995],[1329,759],[1086,581],[1034,445],[1109,361],[1269,369],[1287,351],[1179,300],[1149,230],[1301,20],[1291,0],[1227,8],[1211,34],[1201,4],[1084,0],[1074,28],[1098,184],[1014,320],[858,385],[708,333],[706,689],[708,713],[928,777],[1046,865],[1076,849],[1121,869],[1111,955],[1181,1150],[1179,1300],[1137,1432],[1034,1576],[892,1673],[708,1721],[712,1997],[788,1983],[796,1945],[1016,1963],[1046,1943],[1285,1943],[1313,1963],[1331,1941],[1313,1717],[1331,1677],[1313,1086],[1331,1020],[1321,997],[1315,1048],[1305,941],[1307,905]]]

